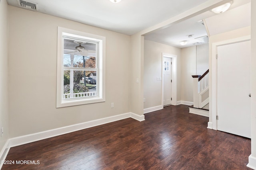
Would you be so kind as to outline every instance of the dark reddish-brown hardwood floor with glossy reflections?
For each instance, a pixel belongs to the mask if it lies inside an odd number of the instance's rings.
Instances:
[[[132,118],[13,147],[2,170],[250,170],[250,139],[207,129],[208,117],[167,106]]]

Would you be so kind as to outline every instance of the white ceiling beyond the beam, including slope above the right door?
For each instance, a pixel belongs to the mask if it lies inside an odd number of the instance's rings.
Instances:
[[[206,20],[210,35],[250,26],[250,0],[233,0],[230,9],[223,14],[214,14],[211,11],[207,11],[165,29],[145,35],[145,39],[178,48],[204,43],[206,39],[198,38],[208,35],[205,26],[200,21],[203,19]],[[193,36],[189,38],[188,35]],[[180,45],[180,41],[184,40],[187,40],[188,44]]]

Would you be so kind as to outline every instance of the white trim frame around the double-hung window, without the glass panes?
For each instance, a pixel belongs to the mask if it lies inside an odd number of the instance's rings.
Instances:
[[[99,46],[102,45],[102,49],[98,48],[98,72],[97,72],[97,88],[98,96],[86,97],[86,98],[73,98],[72,100],[62,100],[62,92],[64,86],[64,72],[63,72],[63,38],[62,35],[68,35],[68,33],[77,35],[77,38],[84,39],[84,37],[90,37],[93,41],[98,41]],[[76,31],[68,28],[58,27],[58,46],[57,46],[57,92],[56,92],[56,107],[67,107],[76,106],[82,104],[92,104],[98,102],[105,102],[105,51],[106,51],[106,37],[100,35],[94,35],[90,33],[85,33],[82,31]]]

